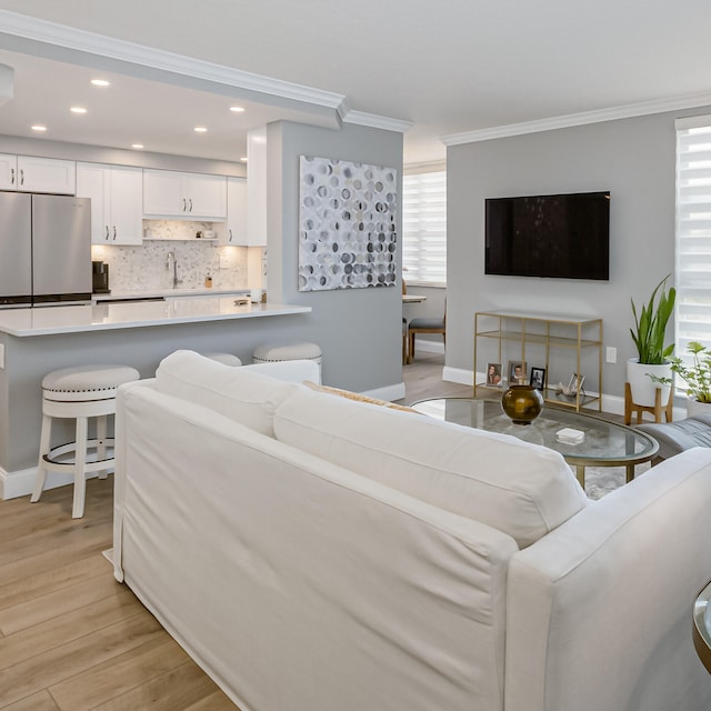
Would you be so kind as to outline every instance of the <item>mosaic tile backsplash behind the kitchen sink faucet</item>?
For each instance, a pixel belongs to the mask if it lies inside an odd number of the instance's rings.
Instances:
[[[256,284],[248,279],[247,247],[219,247],[217,241],[193,239],[198,230],[210,229],[210,222],[144,220],[142,246],[94,244],[91,258],[109,264],[112,292],[172,289],[172,262],[170,267],[168,264],[170,252],[178,264],[179,289],[202,288],[208,274],[212,277],[213,289],[242,290],[259,286],[259,276]]]

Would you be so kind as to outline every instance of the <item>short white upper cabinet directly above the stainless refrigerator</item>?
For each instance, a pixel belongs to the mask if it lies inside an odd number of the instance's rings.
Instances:
[[[73,160],[0,156],[0,189],[73,196],[77,163]]]

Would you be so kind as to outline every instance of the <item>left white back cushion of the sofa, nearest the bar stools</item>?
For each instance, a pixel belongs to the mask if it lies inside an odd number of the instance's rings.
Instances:
[[[156,371],[156,389],[273,437],[274,410],[299,385],[266,372],[254,372],[250,367],[233,368],[181,350],[161,361]]]

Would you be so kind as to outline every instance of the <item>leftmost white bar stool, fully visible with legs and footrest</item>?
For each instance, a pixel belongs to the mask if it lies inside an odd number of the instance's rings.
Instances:
[[[136,368],[128,365],[81,365],[53,370],[42,380],[42,432],[37,480],[30,501],[39,501],[48,471],[70,472],[74,477],[72,518],[84,514],[86,474],[99,472],[106,479],[113,465],[113,439],[107,438],[108,415],[116,413],[116,391],[126,382],[139,380]],[[51,447],[52,418],[74,419],[76,441]],[[97,439],[88,440],[89,418],[97,418]],[[96,450],[96,460],[88,460]],[[73,452],[73,461],[68,458]],[[61,458],[61,459],[60,459]]]

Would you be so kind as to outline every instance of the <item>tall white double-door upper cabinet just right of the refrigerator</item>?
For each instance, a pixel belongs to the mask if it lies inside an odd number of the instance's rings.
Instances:
[[[91,198],[92,244],[141,244],[143,171],[140,168],[78,163],[77,196]]]

